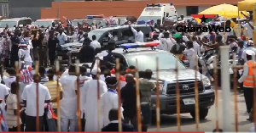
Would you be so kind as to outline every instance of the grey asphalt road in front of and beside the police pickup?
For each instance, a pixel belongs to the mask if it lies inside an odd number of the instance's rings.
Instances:
[[[223,127],[223,116],[222,116],[222,91],[218,90],[218,118],[219,118],[219,128]],[[233,130],[235,131],[235,103],[234,103],[234,92],[231,91],[231,102],[230,107],[232,108],[231,112],[231,122],[232,126],[234,127]],[[237,105],[238,105],[238,130],[239,131],[248,131],[252,126],[253,123],[247,121],[248,114],[246,112],[246,104],[243,97],[243,92],[240,92],[236,95]],[[234,108],[234,109],[233,109]],[[210,108],[209,113],[207,115],[207,119],[203,119],[200,121],[199,130],[195,128],[195,119],[192,119],[190,114],[181,114],[181,131],[211,131],[216,127],[216,108],[215,104]],[[148,128],[148,131],[157,131],[156,125],[153,124]],[[163,114],[160,117],[160,131],[177,131],[177,115],[166,115]]]

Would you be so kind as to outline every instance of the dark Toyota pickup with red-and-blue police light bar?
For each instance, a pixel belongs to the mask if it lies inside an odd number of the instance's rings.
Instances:
[[[195,70],[187,69],[172,53],[155,49],[159,42],[136,42],[119,45],[113,50],[113,57],[119,58],[125,68],[133,65],[138,70],[151,69],[156,82],[156,58],[159,58],[160,80],[160,114],[176,114],[176,86],[180,91],[180,113],[190,113],[195,118],[195,81],[199,91],[200,119],[205,119],[209,108],[214,103],[215,94],[212,91],[211,81],[199,72],[195,77]],[[178,76],[176,75],[176,65]],[[94,64],[93,64],[94,66]],[[177,76],[177,77],[176,77]],[[156,94],[152,91],[153,119],[155,119]]]

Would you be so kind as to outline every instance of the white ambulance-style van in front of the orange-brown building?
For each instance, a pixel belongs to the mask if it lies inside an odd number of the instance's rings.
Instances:
[[[175,17],[177,19],[177,11],[172,3],[147,4],[137,22],[145,21],[147,23],[148,20],[153,19],[154,23],[156,23],[157,19],[160,19],[162,24],[165,17]]]

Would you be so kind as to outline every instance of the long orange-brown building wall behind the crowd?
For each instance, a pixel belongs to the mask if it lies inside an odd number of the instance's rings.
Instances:
[[[223,3],[236,5],[239,1],[241,0],[172,0],[171,2],[177,9],[178,15],[189,16],[214,5]],[[88,14],[104,14],[107,17],[113,15],[138,17],[148,3],[170,3],[170,0],[53,2],[51,8],[42,8],[41,19],[60,18],[63,20],[62,16],[68,19],[84,19]]]

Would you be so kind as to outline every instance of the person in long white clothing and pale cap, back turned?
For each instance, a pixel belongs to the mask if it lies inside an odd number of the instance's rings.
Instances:
[[[99,128],[102,128],[103,119],[98,116],[97,97],[98,95],[102,97],[102,94],[108,91],[108,87],[103,80],[98,79],[97,75],[101,74],[101,69],[92,69],[90,73],[92,80],[86,80],[80,89],[80,96],[83,96],[80,97],[80,108],[85,110],[85,131],[98,131]],[[99,90],[99,94],[97,90]],[[100,117],[100,121],[98,121],[98,117]],[[98,127],[98,123],[100,123],[100,127]]]

